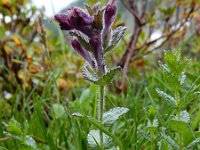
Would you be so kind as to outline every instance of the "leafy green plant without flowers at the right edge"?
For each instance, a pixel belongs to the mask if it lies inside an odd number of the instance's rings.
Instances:
[[[198,149],[197,144],[200,142],[200,137],[197,132],[192,130],[190,114],[186,107],[191,97],[194,97],[197,93],[194,92],[193,86],[188,91],[183,90],[186,80],[184,69],[189,60],[182,60],[181,51],[179,50],[175,53],[166,51],[164,61],[165,64],[159,64],[163,72],[163,83],[166,85],[168,92],[159,88],[156,88],[156,92],[169,104],[170,112],[165,126],[160,131],[159,148]],[[155,125],[157,119],[155,120],[154,117],[154,108],[150,107],[148,114],[151,126],[157,126]],[[165,118],[165,116],[160,117]]]

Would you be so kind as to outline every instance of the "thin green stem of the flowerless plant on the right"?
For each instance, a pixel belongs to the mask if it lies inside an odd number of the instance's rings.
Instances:
[[[176,98],[176,104],[177,104],[177,115],[178,115],[178,120],[181,121],[181,110],[178,106],[179,102],[180,102],[180,95],[179,93],[175,93],[175,98]],[[183,138],[182,138],[182,132],[180,131],[179,132],[179,148],[180,150],[183,149],[183,146],[182,146],[182,141],[183,141]]]

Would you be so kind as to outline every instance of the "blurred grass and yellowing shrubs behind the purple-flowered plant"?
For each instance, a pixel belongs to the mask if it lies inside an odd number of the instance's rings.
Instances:
[[[97,1],[80,0],[70,6],[83,7],[86,2]],[[113,28],[121,24],[128,31],[107,59],[110,65],[122,66],[123,71],[107,88],[106,107],[130,109],[127,119],[117,122],[112,132],[126,143],[125,149],[145,149],[148,142],[141,138],[146,108],[152,103],[148,93],[157,111],[165,114],[168,110],[155,93],[157,86],[165,88],[157,65],[163,50],[181,49],[183,57],[191,59],[185,90],[200,74],[200,2],[121,0]],[[96,115],[97,87],[84,81],[83,60],[77,56],[68,33],[63,34],[53,16],[45,16],[44,9],[30,0],[0,0],[0,149],[21,149],[21,141],[3,133],[11,118],[20,123],[24,134],[28,122],[26,134],[41,149],[87,149],[85,137],[90,124],[83,125],[71,114]],[[199,97],[188,106],[194,130],[199,127],[199,107]],[[141,146],[135,147],[138,139]]]

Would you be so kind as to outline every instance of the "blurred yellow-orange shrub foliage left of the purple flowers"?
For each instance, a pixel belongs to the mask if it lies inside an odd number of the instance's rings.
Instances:
[[[61,88],[74,86],[74,83],[67,81],[64,76],[71,74],[70,76],[76,79],[73,77],[76,67],[70,66],[69,62],[81,61],[73,59],[74,56],[71,57],[69,53],[66,54],[68,46],[61,39],[60,31],[55,25],[52,26],[50,21],[41,20],[42,10],[33,6],[29,0],[3,0],[0,3],[1,90],[12,93],[19,87],[30,90],[34,86],[38,86],[39,90],[39,87],[44,87],[51,71],[56,66],[66,64],[66,60],[68,70],[62,70],[63,77],[61,76],[57,83]],[[54,33],[45,25],[53,28]],[[58,62],[59,59],[63,62]],[[63,69],[66,66],[63,66]]]

